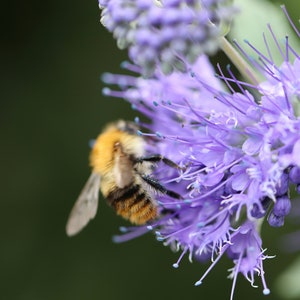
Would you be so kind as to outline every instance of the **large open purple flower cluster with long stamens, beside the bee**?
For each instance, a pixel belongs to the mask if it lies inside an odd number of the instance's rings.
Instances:
[[[115,3],[120,2],[125,0]],[[113,30],[115,23],[111,24]],[[237,45],[265,76],[257,85],[238,80],[230,68],[226,76],[219,67],[216,77],[206,55],[193,63],[179,56],[186,70],[181,73],[166,75],[164,66],[156,65],[153,75],[144,78],[143,66],[127,63],[137,75],[103,76],[106,83],[120,87],[105,88],[105,95],[126,99],[151,120],[149,124],[136,119],[144,128],[138,134],[152,141],[147,151],[182,167],[178,172],[158,165],[154,171],[182,200],[159,196],[161,218],[148,226],[123,229],[116,241],[153,230],[157,240],[182,251],[175,268],[185,254],[190,259],[210,258],[211,266],[195,285],[226,253],[234,264],[231,299],[239,273],[251,285],[260,276],[263,293],[269,293],[263,262],[270,256],[262,247],[260,227],[265,219],[270,226],[283,226],[291,210],[291,190],[300,192],[300,56],[288,38],[283,46],[275,36],[274,40],[283,58],[280,66],[271,54],[263,55],[248,42],[258,61]]]

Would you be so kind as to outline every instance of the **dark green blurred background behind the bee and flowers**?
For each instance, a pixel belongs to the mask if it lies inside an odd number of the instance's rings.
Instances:
[[[283,2],[294,12],[298,1]],[[108,121],[135,116],[101,95],[101,73],[119,72],[127,57],[99,18],[96,0],[1,3],[0,299],[229,299],[225,257],[196,288],[208,264],[185,258],[173,269],[179,253],[150,234],[114,244],[127,223],[104,201],[81,234],[65,234],[90,173],[88,141]],[[277,255],[265,263],[271,289],[293,258],[278,250],[283,232],[263,229],[263,246]],[[235,299],[265,297],[239,276]]]

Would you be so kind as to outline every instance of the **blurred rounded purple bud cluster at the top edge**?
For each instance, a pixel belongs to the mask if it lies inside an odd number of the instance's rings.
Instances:
[[[99,6],[101,22],[145,75],[157,64],[165,73],[182,70],[181,57],[193,62],[215,52],[222,25],[236,13],[228,0],[99,0]]]

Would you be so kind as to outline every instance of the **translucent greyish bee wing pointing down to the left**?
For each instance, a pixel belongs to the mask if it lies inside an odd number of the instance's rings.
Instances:
[[[68,236],[77,234],[97,212],[100,175],[92,173],[76,200],[66,226]]]

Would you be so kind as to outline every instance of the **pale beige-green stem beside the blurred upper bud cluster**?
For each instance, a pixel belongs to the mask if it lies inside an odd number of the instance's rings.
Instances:
[[[258,85],[261,80],[255,73],[253,68],[247,63],[247,61],[238,53],[238,51],[227,41],[225,37],[220,38],[221,49],[232,61],[235,67],[239,70],[241,75],[251,84]]]

